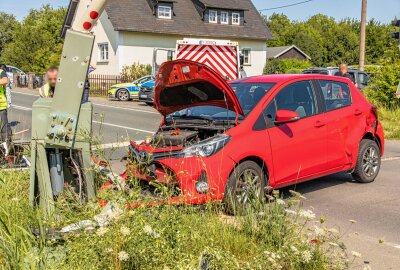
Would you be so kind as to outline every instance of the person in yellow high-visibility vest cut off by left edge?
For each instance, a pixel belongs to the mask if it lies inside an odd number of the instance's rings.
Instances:
[[[4,148],[5,156],[8,156],[10,142],[11,142],[11,129],[8,125],[8,102],[7,102],[7,85],[9,84],[7,76],[7,67],[0,66],[0,140]]]

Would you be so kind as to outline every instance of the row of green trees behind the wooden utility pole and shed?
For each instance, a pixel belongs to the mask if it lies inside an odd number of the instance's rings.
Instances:
[[[317,14],[307,21],[291,21],[286,15],[272,14],[265,21],[274,35],[267,46],[296,45],[311,57],[315,66],[357,65],[360,48],[360,21]],[[397,58],[399,52],[392,26],[370,20],[367,24],[366,64],[378,64],[382,59]]]

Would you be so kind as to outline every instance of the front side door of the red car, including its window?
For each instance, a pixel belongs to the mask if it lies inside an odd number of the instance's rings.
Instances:
[[[275,185],[293,183],[320,174],[327,166],[327,130],[318,96],[310,80],[283,87],[266,107],[273,123],[278,110],[299,114],[300,120],[267,129],[274,166]]]

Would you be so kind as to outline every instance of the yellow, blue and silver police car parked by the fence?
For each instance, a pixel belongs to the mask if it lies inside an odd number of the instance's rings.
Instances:
[[[113,99],[118,99],[120,101],[128,101],[134,98],[138,98],[139,88],[142,84],[154,80],[153,76],[142,77],[132,83],[121,83],[116,84],[108,90],[108,96]]]

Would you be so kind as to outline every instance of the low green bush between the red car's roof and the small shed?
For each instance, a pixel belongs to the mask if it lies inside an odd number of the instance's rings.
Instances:
[[[309,61],[298,59],[268,59],[264,68],[264,74],[298,74],[309,67],[311,67]]]

